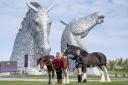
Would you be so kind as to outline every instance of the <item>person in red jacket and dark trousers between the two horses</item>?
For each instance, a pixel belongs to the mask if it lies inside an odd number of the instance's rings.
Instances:
[[[61,55],[61,53],[57,52],[56,57],[53,60],[53,66],[56,70],[57,74],[57,83],[62,84],[62,70],[64,68],[64,59]]]

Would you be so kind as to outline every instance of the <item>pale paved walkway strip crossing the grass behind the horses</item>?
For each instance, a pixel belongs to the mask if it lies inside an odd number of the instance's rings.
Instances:
[[[128,81],[128,78],[111,78],[112,81]],[[0,78],[0,81],[48,81],[48,79],[35,79],[35,78]],[[76,79],[70,79],[70,81],[77,81]],[[88,80],[99,81],[99,80]]]

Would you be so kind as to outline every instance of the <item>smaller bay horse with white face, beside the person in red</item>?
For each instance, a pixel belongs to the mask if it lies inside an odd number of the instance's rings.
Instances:
[[[63,74],[64,74],[64,80],[63,83],[69,83],[69,79],[68,79],[68,66],[69,66],[69,61],[68,58],[63,58],[64,59],[64,69],[63,69]],[[54,60],[54,56],[53,55],[46,55],[46,56],[42,56],[41,58],[39,58],[37,60],[37,68],[39,71],[41,71],[42,69],[44,69],[44,66],[47,67],[47,71],[48,71],[48,84],[54,84],[55,83],[55,68],[53,66],[52,61]]]

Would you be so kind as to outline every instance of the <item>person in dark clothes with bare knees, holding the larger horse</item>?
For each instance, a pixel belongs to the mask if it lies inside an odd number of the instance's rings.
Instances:
[[[85,66],[82,57],[83,56],[80,54],[80,50],[76,50],[76,55],[74,57],[69,57],[72,60],[76,60],[75,67],[77,69],[78,83],[82,82],[82,70],[84,70]]]

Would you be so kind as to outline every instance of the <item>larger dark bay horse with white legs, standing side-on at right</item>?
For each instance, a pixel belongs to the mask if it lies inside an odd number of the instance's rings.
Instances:
[[[63,55],[64,56],[75,56],[76,55],[76,50],[80,50],[81,51],[81,55],[83,56],[83,61],[85,64],[84,67],[84,71],[82,74],[82,80],[87,82],[87,76],[86,76],[86,68],[87,67],[97,67],[99,69],[99,71],[101,72],[101,80],[100,82],[105,82],[105,80],[107,80],[107,82],[111,82],[110,77],[108,75],[108,71],[106,69],[106,64],[107,64],[107,60],[106,60],[106,56],[101,53],[101,52],[93,52],[93,53],[88,53],[87,51],[85,51],[84,49],[74,46],[74,45],[68,45],[67,44],[67,48],[65,49]],[[105,79],[106,77],[106,79]]]

